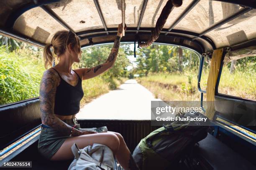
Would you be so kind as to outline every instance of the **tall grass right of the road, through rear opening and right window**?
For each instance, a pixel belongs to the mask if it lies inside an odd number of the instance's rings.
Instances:
[[[201,77],[201,87],[204,90],[206,90],[207,77],[208,71],[205,71]],[[200,100],[195,71],[150,74],[139,77],[138,82],[161,100]],[[223,67],[218,92],[256,100],[256,71],[237,69],[230,74],[228,68]]]

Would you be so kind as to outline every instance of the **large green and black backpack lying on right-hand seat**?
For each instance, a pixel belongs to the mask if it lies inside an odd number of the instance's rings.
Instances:
[[[180,117],[205,117],[201,113],[183,113]],[[205,117],[207,118],[207,117]],[[133,151],[141,170],[165,170],[177,165],[191,148],[206,138],[210,121],[174,121],[151,132]]]

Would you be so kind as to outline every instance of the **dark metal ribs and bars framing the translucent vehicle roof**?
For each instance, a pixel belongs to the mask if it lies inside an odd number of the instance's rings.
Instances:
[[[207,36],[205,36],[205,34],[207,32],[210,32],[212,30],[214,30],[215,28],[220,27],[221,25],[229,22],[230,20],[233,20],[237,17],[239,17],[240,15],[243,15],[244,13],[252,10],[253,8],[256,8],[255,3],[256,0],[249,0],[250,2],[241,2],[238,0],[218,0],[218,1],[224,1],[224,2],[229,2],[229,3],[235,3],[235,4],[239,4],[242,6],[245,6],[245,9],[239,11],[238,13],[235,13],[234,15],[225,18],[223,20],[220,20],[218,23],[215,23],[214,25],[212,25],[211,27],[207,28],[206,30],[204,30],[203,32],[201,32],[200,34],[195,33],[195,32],[189,32],[189,31],[184,31],[184,30],[174,30],[174,26],[177,25],[182,18],[184,18],[187,13],[189,13],[190,10],[193,9],[193,7],[195,7],[195,5],[199,2],[200,0],[194,0],[192,1],[188,7],[182,12],[181,15],[179,15],[179,17],[174,21],[174,23],[170,26],[169,29],[162,29],[161,33],[164,33],[164,35],[168,35],[170,33],[178,33],[178,34],[182,34],[182,35],[192,35],[194,36],[194,38],[192,38],[191,40],[195,40],[197,38],[200,38],[202,40],[205,40],[207,43],[209,43],[212,46],[212,49],[215,50],[215,44],[214,42]],[[13,32],[13,26],[16,22],[16,20],[19,18],[20,15],[22,15],[23,13],[25,13],[26,11],[34,8],[34,7],[38,7],[40,6],[43,10],[46,11],[46,13],[48,13],[51,17],[53,17],[57,22],[59,22],[61,25],[63,25],[65,28],[67,28],[67,30],[71,30],[74,32],[74,30],[64,21],[62,20],[56,13],[54,13],[53,10],[51,10],[49,7],[47,7],[47,4],[50,3],[54,3],[54,2],[59,2],[59,0],[44,0],[44,1],[40,1],[38,2],[37,0],[34,0],[34,3],[29,3],[27,5],[24,5],[23,7],[20,7],[18,10],[15,10],[14,13],[12,13],[9,18],[8,21],[6,23],[7,25],[7,29],[8,30],[3,30],[0,29],[0,32],[2,32],[4,35],[9,35],[10,37],[14,37],[18,40],[23,40],[25,42],[28,42],[30,44],[34,44],[36,46],[40,46],[40,47],[44,47],[43,43],[40,43],[36,40],[32,40],[29,37],[23,36],[23,35],[19,35],[16,32]],[[141,28],[141,21],[143,19],[143,15],[144,12],[146,10],[146,5],[147,5],[148,0],[143,0],[143,6],[141,9],[141,13],[140,13],[140,18],[138,21],[138,26],[137,28],[128,28],[126,30],[126,32],[136,32],[138,34],[138,32],[151,32],[152,28]],[[87,31],[82,31],[82,32],[74,32],[77,36],[79,36],[81,38],[81,40],[84,40],[85,38],[90,38],[90,37],[95,37],[95,36],[102,36],[102,34],[108,35],[109,32],[117,32],[116,28],[107,28],[107,25],[105,23],[104,17],[102,15],[102,11],[100,9],[100,5],[98,3],[98,0],[94,0],[95,6],[97,8],[97,11],[99,13],[100,19],[102,21],[102,25],[104,26],[104,30],[103,29],[95,29],[95,30],[87,30]],[[93,36],[92,36],[93,35]],[[199,42],[200,43],[200,42]]]

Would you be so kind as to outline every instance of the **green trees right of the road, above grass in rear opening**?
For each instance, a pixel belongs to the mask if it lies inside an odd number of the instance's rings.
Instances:
[[[167,45],[151,45],[136,52],[135,74],[148,75],[157,72],[181,72],[198,70],[199,60],[195,52]]]

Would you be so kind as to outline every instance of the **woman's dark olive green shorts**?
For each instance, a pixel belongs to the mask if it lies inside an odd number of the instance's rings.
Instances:
[[[50,160],[67,138],[71,137],[62,135],[53,128],[41,127],[38,151],[42,156],[44,156],[44,158]]]

